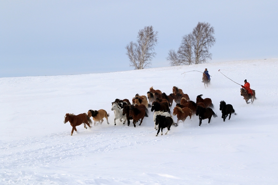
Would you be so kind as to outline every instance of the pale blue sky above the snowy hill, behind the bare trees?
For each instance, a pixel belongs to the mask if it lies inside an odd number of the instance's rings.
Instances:
[[[183,35],[214,27],[212,60],[278,58],[278,1],[0,1],[0,77],[132,70],[125,46],[158,31],[152,67]]]

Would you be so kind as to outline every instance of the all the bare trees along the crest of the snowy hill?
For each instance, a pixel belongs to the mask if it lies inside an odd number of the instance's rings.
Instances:
[[[155,57],[154,46],[158,43],[158,32],[152,26],[138,32],[137,43],[130,42],[125,48],[130,66],[134,69],[150,67]],[[198,23],[188,35],[184,35],[178,51],[171,49],[166,59],[171,66],[206,63],[211,59],[209,49],[214,45],[214,28],[209,23]]]

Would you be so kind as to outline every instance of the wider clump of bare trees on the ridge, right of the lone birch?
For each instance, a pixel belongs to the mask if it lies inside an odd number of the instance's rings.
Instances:
[[[171,66],[205,63],[211,59],[209,48],[214,45],[214,28],[209,23],[198,23],[192,33],[183,36],[177,53],[170,50],[167,60]]]

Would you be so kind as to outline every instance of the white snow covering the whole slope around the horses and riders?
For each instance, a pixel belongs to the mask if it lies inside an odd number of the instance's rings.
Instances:
[[[278,59],[267,59],[0,78],[0,184],[278,184],[277,66]],[[208,88],[204,68],[212,76]],[[247,105],[240,85],[219,69],[239,84],[247,79],[254,103]],[[147,95],[152,86],[167,95],[177,86],[193,101],[203,94],[218,117],[199,126],[194,115],[156,137],[149,108],[141,126],[115,126],[111,102]],[[222,100],[237,113],[225,122]],[[65,114],[89,109],[107,110],[110,125],[82,124],[71,136]]]

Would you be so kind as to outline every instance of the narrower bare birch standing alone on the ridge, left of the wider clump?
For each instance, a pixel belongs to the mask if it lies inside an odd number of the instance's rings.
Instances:
[[[144,27],[138,32],[137,43],[132,41],[125,47],[130,61],[130,66],[134,69],[144,69],[150,67],[151,60],[155,57],[154,46],[157,44],[157,31],[152,26]]]

